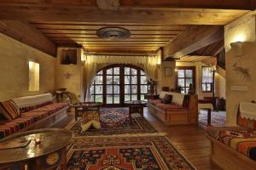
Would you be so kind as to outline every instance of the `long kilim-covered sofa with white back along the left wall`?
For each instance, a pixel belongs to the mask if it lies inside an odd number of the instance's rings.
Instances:
[[[0,102],[0,139],[14,133],[50,127],[67,116],[67,103],[53,103],[52,94]]]

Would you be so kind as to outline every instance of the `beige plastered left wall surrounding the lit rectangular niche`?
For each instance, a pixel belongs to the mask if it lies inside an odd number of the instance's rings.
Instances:
[[[40,90],[28,91],[28,61],[40,64]],[[55,87],[55,58],[0,33],[0,100],[44,94]]]

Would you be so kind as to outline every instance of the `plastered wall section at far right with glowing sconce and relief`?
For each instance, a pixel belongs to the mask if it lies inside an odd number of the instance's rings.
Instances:
[[[247,14],[225,26],[224,30],[227,124],[233,126],[239,103],[256,100],[255,15]],[[231,42],[236,42],[236,46],[231,48]],[[247,70],[250,78],[246,78],[239,68]]]

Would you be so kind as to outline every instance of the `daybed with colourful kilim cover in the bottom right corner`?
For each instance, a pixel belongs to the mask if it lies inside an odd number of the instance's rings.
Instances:
[[[241,103],[237,127],[207,127],[212,161],[223,169],[256,169],[256,104]]]

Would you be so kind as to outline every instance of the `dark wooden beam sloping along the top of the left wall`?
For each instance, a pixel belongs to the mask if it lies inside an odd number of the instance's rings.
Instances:
[[[0,20],[0,32],[32,48],[56,56],[55,44],[30,24],[19,20]]]

